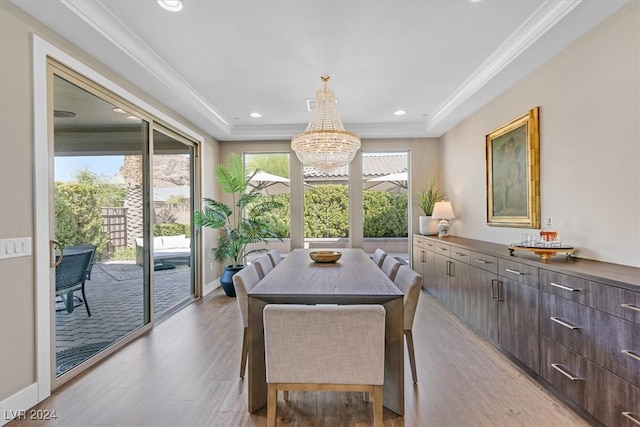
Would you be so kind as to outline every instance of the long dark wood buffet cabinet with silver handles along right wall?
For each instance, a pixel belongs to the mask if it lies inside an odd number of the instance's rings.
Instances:
[[[423,287],[563,400],[640,426],[640,268],[413,236]]]

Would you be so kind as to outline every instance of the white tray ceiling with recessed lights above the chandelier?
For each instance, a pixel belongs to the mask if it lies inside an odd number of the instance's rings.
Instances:
[[[440,136],[627,3],[12,1],[220,141],[303,132],[324,74],[347,130]]]

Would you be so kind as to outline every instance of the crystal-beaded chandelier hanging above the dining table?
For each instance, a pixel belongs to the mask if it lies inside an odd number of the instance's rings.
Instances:
[[[336,97],[327,89],[329,76],[320,77],[324,89],[316,92],[307,130],[291,139],[291,148],[305,166],[330,173],[351,163],[360,148],[360,137],[344,130]]]

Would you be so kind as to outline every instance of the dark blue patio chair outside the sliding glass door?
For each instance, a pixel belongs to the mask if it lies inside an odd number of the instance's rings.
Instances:
[[[62,261],[56,266],[56,297],[61,298],[65,306],[64,309],[68,313],[72,313],[76,306],[84,303],[87,314],[91,317],[87,295],[84,291],[84,282],[87,280],[87,268],[93,259],[93,253],[93,250],[87,250],[63,255]],[[76,291],[82,291],[82,298],[74,296],[73,293]]]

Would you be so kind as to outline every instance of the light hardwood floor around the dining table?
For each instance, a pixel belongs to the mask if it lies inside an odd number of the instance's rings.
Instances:
[[[405,351],[405,416],[385,410],[385,426],[588,425],[425,293],[413,331],[418,384]],[[264,426],[265,409],[247,412],[241,344],[236,300],[217,290],[34,408],[55,411],[55,420],[8,426]],[[361,393],[289,399],[278,401],[278,425],[371,424]]]

